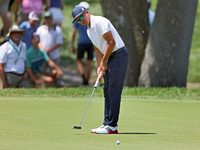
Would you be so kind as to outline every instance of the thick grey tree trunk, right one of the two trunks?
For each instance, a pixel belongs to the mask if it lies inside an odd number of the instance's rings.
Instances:
[[[139,85],[185,87],[198,0],[159,0]]]

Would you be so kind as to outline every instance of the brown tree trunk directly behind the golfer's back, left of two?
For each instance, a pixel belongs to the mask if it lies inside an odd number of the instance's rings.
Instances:
[[[100,0],[100,2],[104,16],[115,26],[129,52],[129,66],[125,85],[137,86],[140,75],[140,64],[143,58],[142,55],[144,55],[144,45],[146,45],[147,41],[146,34],[148,34],[148,27],[142,26],[145,22],[143,20],[147,20],[148,22],[148,18],[143,18],[145,16],[143,14],[148,15],[147,9],[146,12],[143,12],[145,7],[141,5],[141,3],[147,4],[146,0]],[[141,15],[140,17],[138,16],[139,14]],[[137,19],[142,21],[138,21]],[[136,27],[135,24],[137,25]],[[137,41],[140,41],[139,44],[136,44],[134,32],[138,35],[139,40],[137,39]],[[146,39],[143,40],[142,38],[145,36]]]

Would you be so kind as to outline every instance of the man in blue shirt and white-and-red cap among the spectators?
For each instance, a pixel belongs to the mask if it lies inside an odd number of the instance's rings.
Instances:
[[[22,39],[23,42],[26,43],[27,49],[29,49],[29,47],[32,45],[31,38],[33,36],[33,33],[36,32],[37,28],[39,27],[38,21],[38,15],[34,11],[32,11],[28,15],[28,21],[24,21],[20,25],[20,28],[25,30],[25,34]]]

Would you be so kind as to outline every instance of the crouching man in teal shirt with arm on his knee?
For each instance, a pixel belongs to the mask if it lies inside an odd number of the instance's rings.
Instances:
[[[36,84],[41,83],[56,83],[60,84],[60,80],[63,77],[62,70],[49,59],[47,53],[38,47],[39,35],[33,34],[31,43],[32,46],[26,53],[26,65],[27,72],[31,77],[31,80]],[[46,68],[42,67],[44,63],[47,63],[51,67],[48,72]]]

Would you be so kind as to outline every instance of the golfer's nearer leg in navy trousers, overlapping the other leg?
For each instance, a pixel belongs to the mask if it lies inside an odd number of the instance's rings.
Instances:
[[[108,85],[108,95],[110,100],[109,108],[109,126],[117,126],[120,103],[121,103],[121,93],[123,89],[123,84],[125,80],[126,70],[128,66],[128,53],[127,51],[122,51],[116,53],[114,56],[109,58],[108,68],[109,68],[109,85]]]

